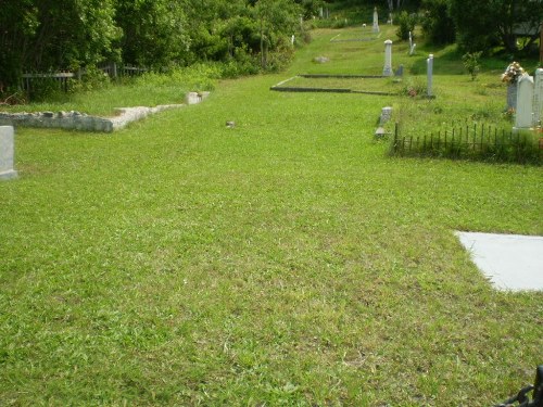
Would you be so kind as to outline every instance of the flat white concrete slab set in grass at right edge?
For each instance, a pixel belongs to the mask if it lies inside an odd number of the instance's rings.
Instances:
[[[497,290],[543,290],[543,237],[456,232]]]

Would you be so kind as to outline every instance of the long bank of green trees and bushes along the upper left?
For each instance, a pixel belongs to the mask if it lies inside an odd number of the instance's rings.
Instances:
[[[288,39],[296,35],[302,43],[307,37],[300,15],[313,15],[320,5],[319,0],[4,0],[0,94],[16,90],[25,71],[74,72],[101,62],[167,71],[213,61],[228,66],[228,76],[275,71],[290,60]]]

